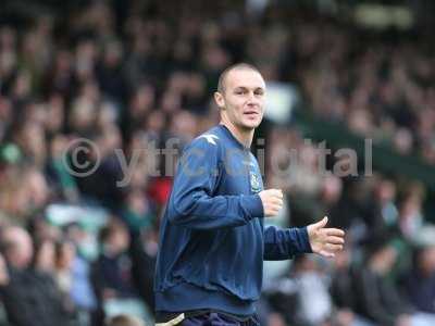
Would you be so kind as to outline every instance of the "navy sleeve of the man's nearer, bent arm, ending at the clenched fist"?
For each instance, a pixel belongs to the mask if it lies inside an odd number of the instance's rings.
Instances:
[[[228,163],[231,164],[231,163]],[[219,145],[196,139],[184,152],[169,203],[171,223],[195,229],[235,227],[263,217],[258,195],[214,196],[224,173]]]

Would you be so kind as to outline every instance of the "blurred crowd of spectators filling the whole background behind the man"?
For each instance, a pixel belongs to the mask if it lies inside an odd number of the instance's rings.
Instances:
[[[1,0],[0,324],[152,325],[172,177],[147,148],[181,150],[216,124],[219,75],[244,61],[269,89],[252,151],[286,195],[268,223],[328,215],[347,230],[334,260],[265,263],[262,325],[435,325],[434,12],[430,0]]]

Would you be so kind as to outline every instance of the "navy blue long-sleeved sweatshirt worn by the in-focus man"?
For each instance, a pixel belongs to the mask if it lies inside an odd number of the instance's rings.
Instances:
[[[261,190],[256,158],[224,125],[185,148],[161,223],[157,311],[253,314],[263,260],[311,252],[306,227],[264,228]]]

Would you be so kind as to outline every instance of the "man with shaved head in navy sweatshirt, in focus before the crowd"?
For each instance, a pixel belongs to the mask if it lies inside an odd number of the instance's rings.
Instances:
[[[263,260],[297,253],[333,256],[344,233],[264,228],[283,205],[263,190],[249,151],[264,113],[265,83],[248,64],[225,70],[214,99],[221,123],[186,147],[161,224],[154,284],[158,325],[258,325]]]

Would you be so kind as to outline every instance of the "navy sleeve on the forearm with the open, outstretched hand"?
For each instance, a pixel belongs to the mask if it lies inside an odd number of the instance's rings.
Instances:
[[[264,228],[265,261],[291,259],[295,254],[312,252],[307,227],[281,229],[275,226]]]

